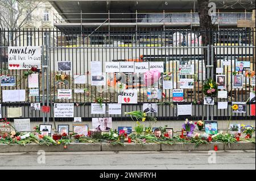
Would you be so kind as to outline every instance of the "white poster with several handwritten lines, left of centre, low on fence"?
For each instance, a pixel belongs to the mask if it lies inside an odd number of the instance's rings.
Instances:
[[[73,103],[55,103],[54,117],[74,117]]]

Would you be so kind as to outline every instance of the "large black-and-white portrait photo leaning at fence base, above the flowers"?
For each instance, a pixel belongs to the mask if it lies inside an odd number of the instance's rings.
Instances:
[[[92,126],[97,132],[108,132],[112,128],[112,117],[93,118]]]

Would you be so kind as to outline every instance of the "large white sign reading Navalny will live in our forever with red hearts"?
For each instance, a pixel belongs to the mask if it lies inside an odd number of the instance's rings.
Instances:
[[[8,69],[41,68],[41,47],[8,47]]]

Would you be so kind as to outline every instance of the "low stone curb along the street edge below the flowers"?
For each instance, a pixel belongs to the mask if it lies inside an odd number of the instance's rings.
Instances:
[[[135,144],[125,143],[122,145],[110,145],[108,143],[71,143],[64,149],[64,145],[37,145],[28,144],[22,145],[5,145],[0,144],[0,153],[11,152],[38,152],[44,150],[46,152],[54,151],[207,151],[213,150],[214,145],[218,146],[218,150],[255,150],[255,144],[251,142],[236,142],[234,144],[226,145],[221,142],[210,142],[208,144],[199,145],[196,147],[194,143],[177,143],[174,145],[164,144]]]

